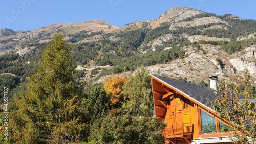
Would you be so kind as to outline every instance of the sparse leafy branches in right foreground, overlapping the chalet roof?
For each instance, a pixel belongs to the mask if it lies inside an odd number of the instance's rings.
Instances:
[[[234,130],[232,140],[241,143],[256,142],[256,103],[249,99],[249,72],[245,70],[244,75],[238,77],[234,93],[227,92],[226,82],[219,85],[222,92],[216,100],[209,102],[221,118],[229,122],[229,127]],[[243,96],[238,92],[239,84],[243,82],[245,89]],[[240,133],[241,132],[241,133]]]

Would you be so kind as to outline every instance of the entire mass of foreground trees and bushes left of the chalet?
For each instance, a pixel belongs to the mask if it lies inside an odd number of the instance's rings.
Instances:
[[[62,34],[52,39],[27,90],[10,103],[9,137],[2,142],[163,143],[165,124],[152,117],[148,71],[141,68],[135,76],[116,76],[83,89],[75,85],[71,49]],[[141,93],[132,91],[138,88]]]

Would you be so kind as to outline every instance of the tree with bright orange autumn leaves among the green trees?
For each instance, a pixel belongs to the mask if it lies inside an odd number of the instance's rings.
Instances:
[[[127,82],[127,77],[115,76],[113,78],[109,77],[104,81],[104,89],[106,94],[110,98],[112,105],[116,105],[122,97],[122,86]]]

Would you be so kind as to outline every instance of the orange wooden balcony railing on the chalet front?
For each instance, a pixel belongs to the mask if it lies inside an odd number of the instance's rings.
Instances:
[[[183,138],[188,135],[193,135],[193,124],[176,124],[168,125],[164,128],[163,135],[166,138]]]

